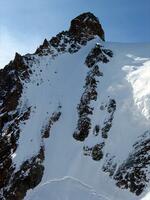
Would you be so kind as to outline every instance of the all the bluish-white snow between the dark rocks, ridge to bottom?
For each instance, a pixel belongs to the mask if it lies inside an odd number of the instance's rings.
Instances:
[[[101,41],[95,39],[78,53],[59,55],[55,60],[50,60],[47,56],[35,57],[31,83],[25,83],[20,102],[22,108],[26,103],[32,108],[30,119],[26,124],[20,125],[21,137],[13,158],[17,167],[38,152],[41,129],[51,114],[57,110],[58,105],[62,106],[62,115],[52,127],[50,138],[44,141],[45,170],[42,182],[37,189],[28,192],[26,200],[48,200],[50,195],[54,195],[53,198],[50,196],[54,200],[72,200],[78,194],[83,195],[83,198],[79,198],[82,200],[101,199],[98,194],[103,196],[103,200],[147,198],[144,197],[146,193],[136,197],[128,190],[117,188],[115,181],[101,170],[104,160],[96,162],[83,155],[84,145],[101,142],[99,137],[92,134],[92,129],[84,142],[77,142],[72,137],[78,117],[76,106],[84,91],[84,80],[89,70],[84,65],[85,57],[97,42]],[[92,102],[95,108],[92,128],[96,124],[102,125],[109,117],[105,110],[100,110],[100,107],[105,105],[109,98],[114,98],[117,110],[104,153],[115,156],[115,161],[120,164],[132,151],[132,145],[138,136],[150,129],[148,109],[150,44],[103,43],[103,45],[113,51],[114,57],[108,64],[100,63],[104,76],[99,79],[98,100]],[[80,182],[93,188],[96,195],[90,196],[91,189],[82,186]],[[42,194],[46,196],[40,196]]]

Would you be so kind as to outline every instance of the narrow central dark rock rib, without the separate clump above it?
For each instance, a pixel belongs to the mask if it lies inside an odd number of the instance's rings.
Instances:
[[[92,100],[97,100],[96,77],[98,76],[100,76],[99,68],[98,66],[94,66],[86,77],[85,91],[77,108],[79,120],[77,130],[73,134],[76,140],[84,141],[88,137],[89,130],[91,129],[91,119],[89,116],[93,114],[93,107],[90,106],[90,103]]]

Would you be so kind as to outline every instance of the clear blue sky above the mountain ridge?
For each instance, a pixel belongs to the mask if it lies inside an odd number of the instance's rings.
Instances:
[[[150,0],[0,0],[0,67],[87,11],[99,18],[107,41],[150,42]]]

